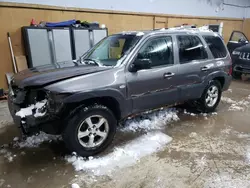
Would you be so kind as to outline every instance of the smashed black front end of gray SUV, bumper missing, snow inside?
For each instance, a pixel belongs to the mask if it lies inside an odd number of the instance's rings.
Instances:
[[[20,89],[11,85],[8,104],[13,120],[23,134],[38,131],[58,134],[63,103],[57,101],[54,94],[43,88]]]

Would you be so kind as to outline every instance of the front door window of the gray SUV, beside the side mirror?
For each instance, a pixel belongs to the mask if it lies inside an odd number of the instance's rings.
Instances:
[[[146,42],[137,59],[150,59],[152,67],[174,64],[171,37],[159,37]]]

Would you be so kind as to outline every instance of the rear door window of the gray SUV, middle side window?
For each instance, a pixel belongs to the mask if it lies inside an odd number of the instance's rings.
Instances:
[[[193,60],[207,59],[207,52],[197,36],[177,36],[179,46],[180,63],[188,63]]]

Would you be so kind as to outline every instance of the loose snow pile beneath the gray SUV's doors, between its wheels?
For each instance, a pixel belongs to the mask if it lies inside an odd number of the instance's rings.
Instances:
[[[178,121],[179,117],[177,116],[176,109],[162,109],[156,112],[147,112],[142,114],[141,118],[128,119],[125,122],[124,128],[121,131],[136,132],[138,130],[154,130],[161,129],[171,121]],[[150,113],[150,114],[149,114]]]

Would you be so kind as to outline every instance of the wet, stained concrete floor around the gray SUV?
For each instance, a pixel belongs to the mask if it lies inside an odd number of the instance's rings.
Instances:
[[[81,188],[250,187],[249,95],[250,81],[234,81],[223,94],[218,114],[179,112],[179,121],[160,130],[173,138],[163,150],[103,176],[76,172],[64,159],[67,153],[62,142],[44,143],[38,148],[15,147],[12,143],[19,136],[18,129],[6,102],[0,102],[0,146],[7,150],[7,154],[0,152],[0,187],[62,188],[72,183]],[[103,155],[137,134],[119,132]]]

